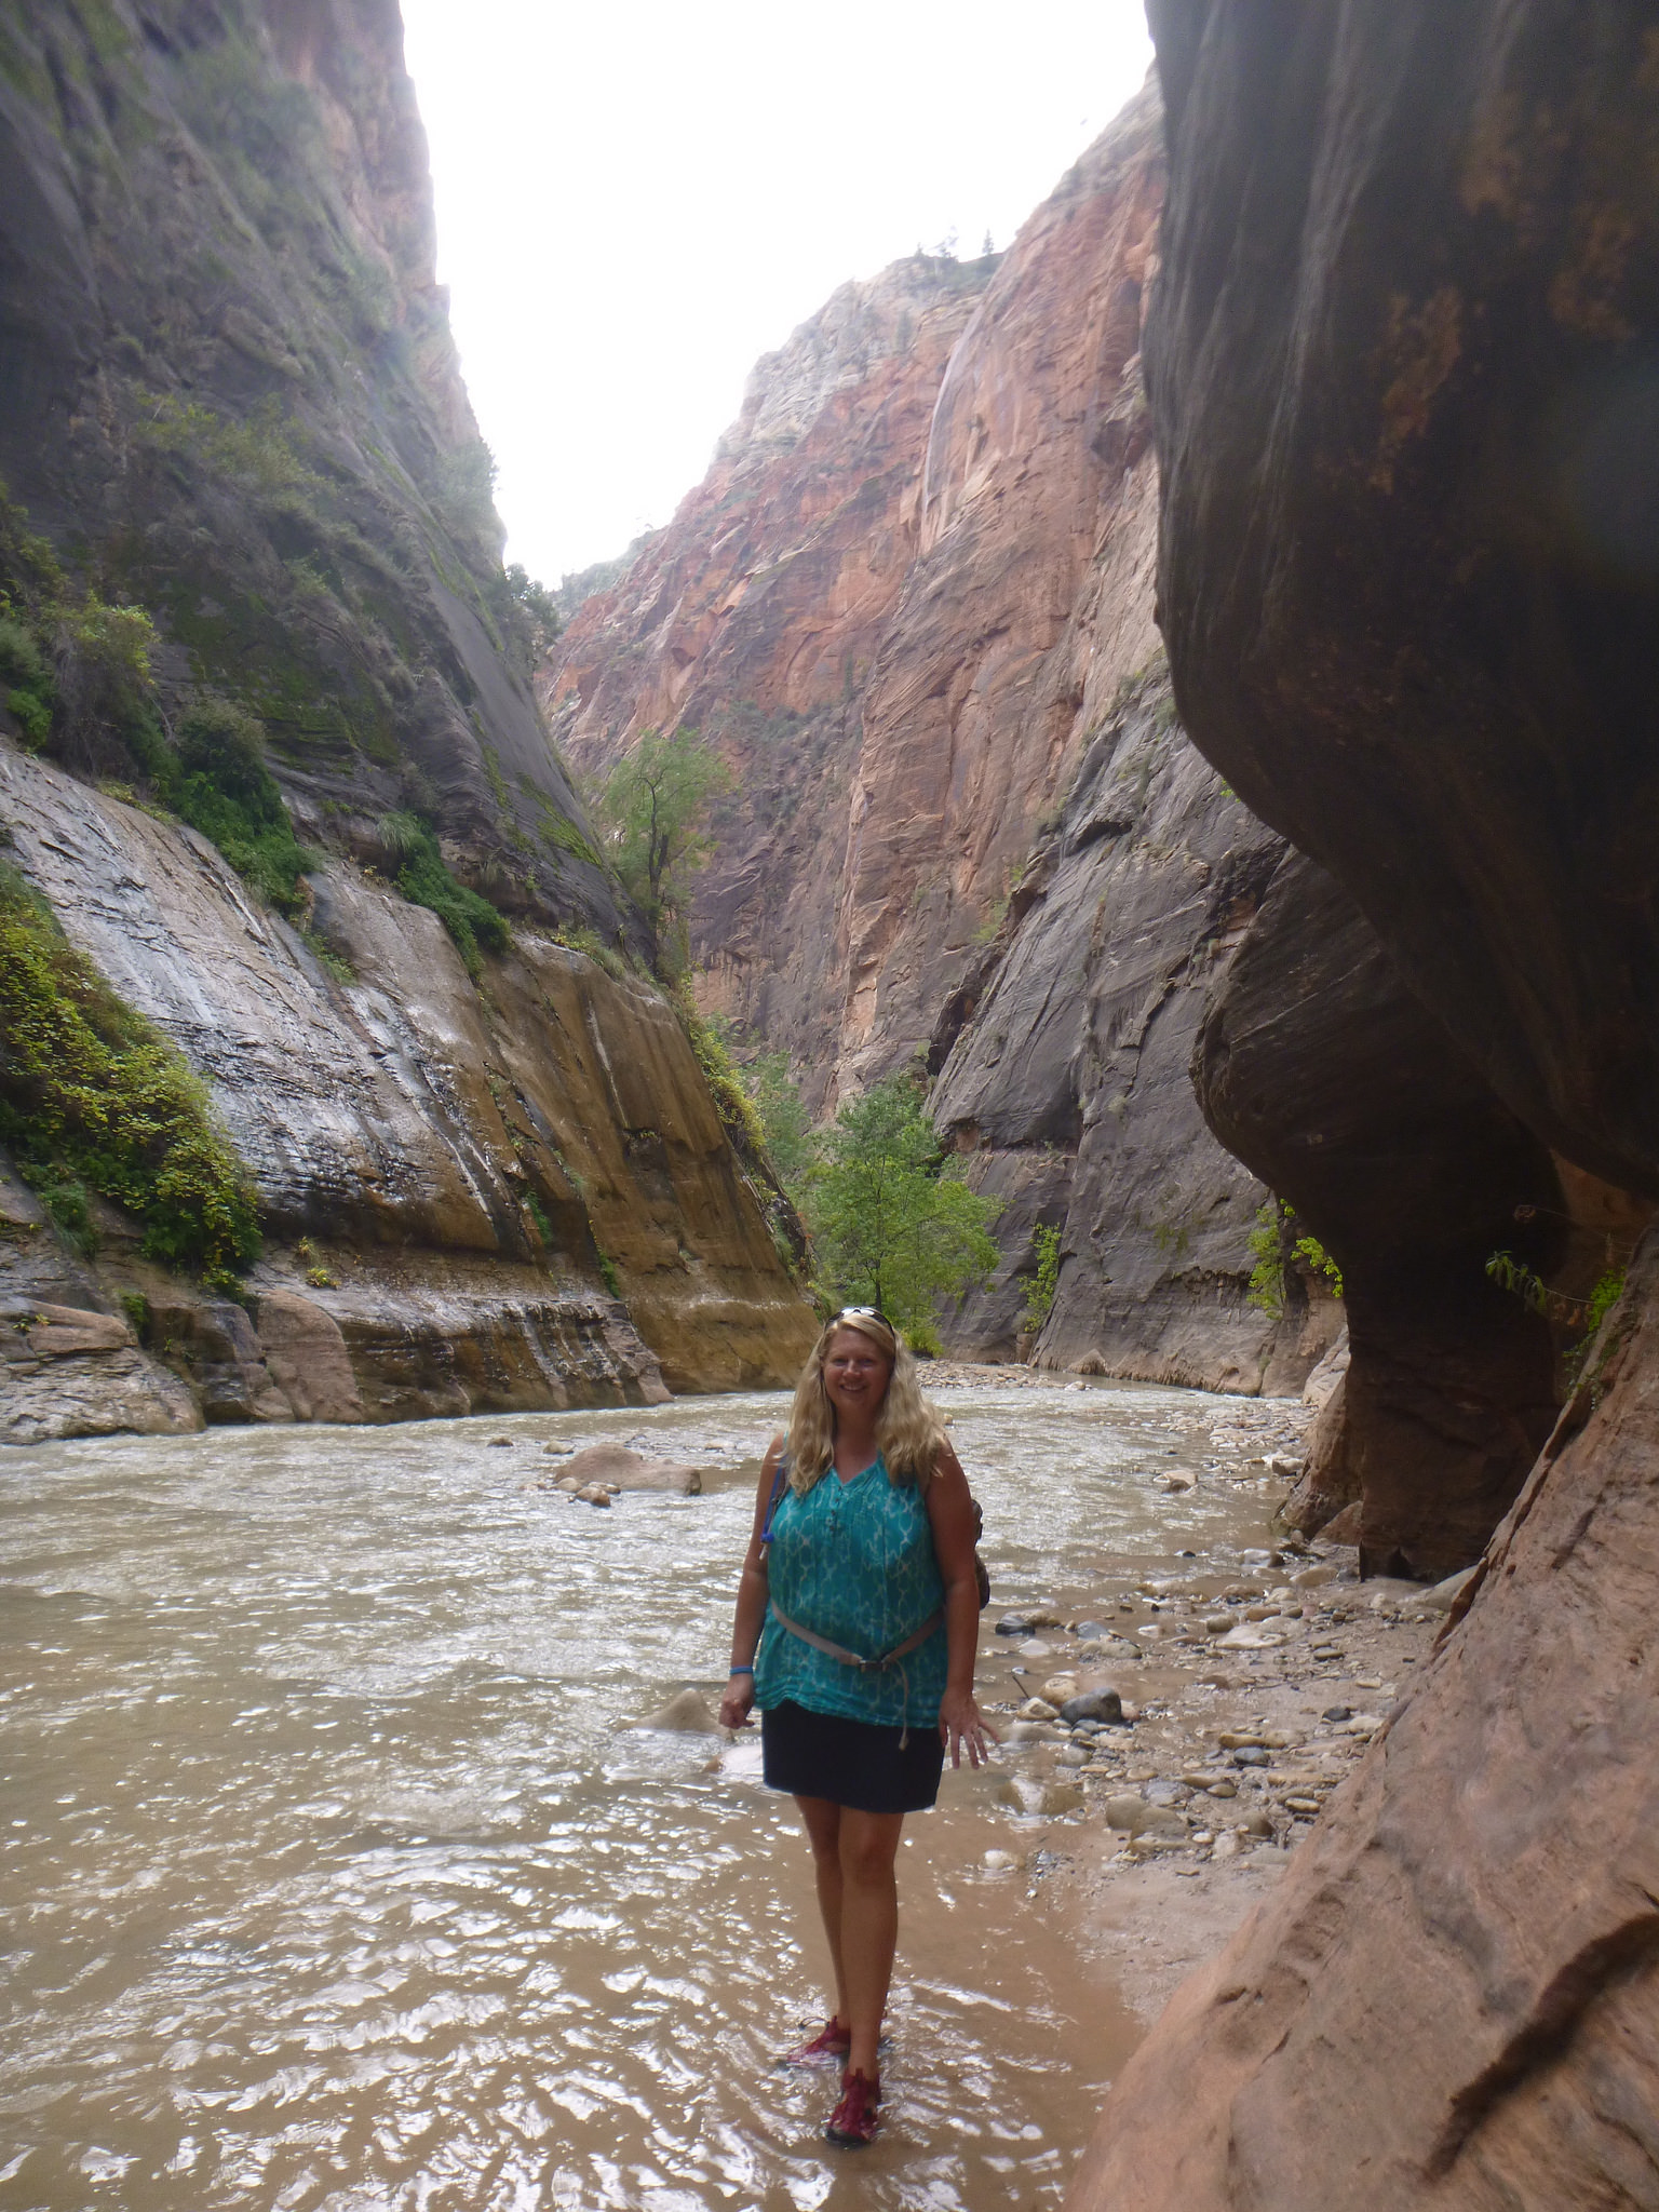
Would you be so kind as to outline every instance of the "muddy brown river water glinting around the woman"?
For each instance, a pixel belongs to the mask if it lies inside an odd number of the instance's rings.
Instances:
[[[7,2212],[1060,2201],[1135,2037],[982,1871],[1029,1847],[995,1778],[909,1825],[891,2117],[849,2159],[834,2077],[774,2066],[821,2002],[792,1807],[752,1739],[619,1728],[717,1694],[781,1407],[0,1458]],[[1239,1400],[949,1407],[1000,1601],[1250,1540],[1237,1495],[1146,1482]],[[535,1489],[602,1438],[726,1473],[611,1513]]]

